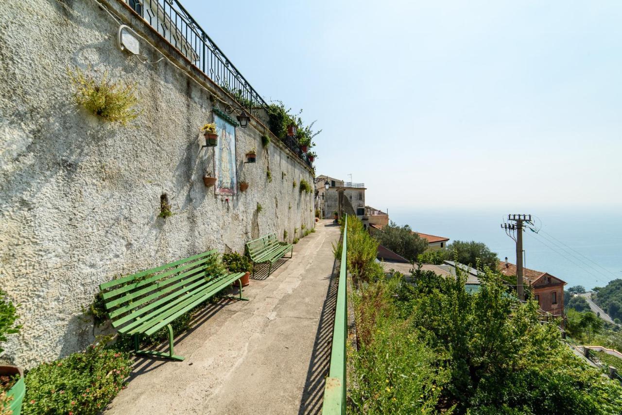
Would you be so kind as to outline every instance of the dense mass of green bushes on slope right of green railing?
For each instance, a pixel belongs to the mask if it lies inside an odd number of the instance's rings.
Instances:
[[[508,296],[490,270],[475,293],[465,280],[460,270],[445,278],[417,268],[411,283],[396,275],[353,296],[354,413],[619,413],[622,387],[575,356],[555,324],[541,324],[535,301]],[[412,385],[394,392],[395,381]],[[417,401],[409,388],[421,391]],[[401,404],[391,393],[403,393],[407,409],[391,406]]]

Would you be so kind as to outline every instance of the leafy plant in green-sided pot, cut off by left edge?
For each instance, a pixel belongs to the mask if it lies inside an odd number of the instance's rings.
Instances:
[[[6,293],[0,290],[0,342],[5,342],[7,334],[16,334],[21,326],[15,324],[17,320],[15,306],[6,298]],[[0,353],[4,349],[0,348]],[[4,403],[8,404],[8,409],[13,414],[19,415],[22,410],[22,401],[26,394],[26,384],[24,383],[24,373],[17,366],[0,366],[0,386],[6,393]]]

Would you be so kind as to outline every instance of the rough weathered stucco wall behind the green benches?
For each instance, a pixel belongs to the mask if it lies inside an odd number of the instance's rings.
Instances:
[[[313,183],[312,170],[274,137],[262,149],[256,122],[236,129],[248,191],[226,201],[203,185],[213,149],[200,148],[199,128],[213,120],[213,104],[195,80],[225,94],[121,2],[104,4],[190,76],[166,59],[143,64],[121,52],[119,25],[92,0],[0,2],[0,287],[23,324],[4,357],[25,367],[93,340],[81,308],[115,275],[208,249],[241,252],[270,232],[291,240],[301,224],[313,226],[313,194],[292,186]],[[144,40],[141,52],[162,57]],[[74,67],[136,82],[143,114],[121,127],[77,107],[66,73]],[[257,163],[244,164],[253,147]],[[167,219],[158,217],[163,193],[175,213]]]

